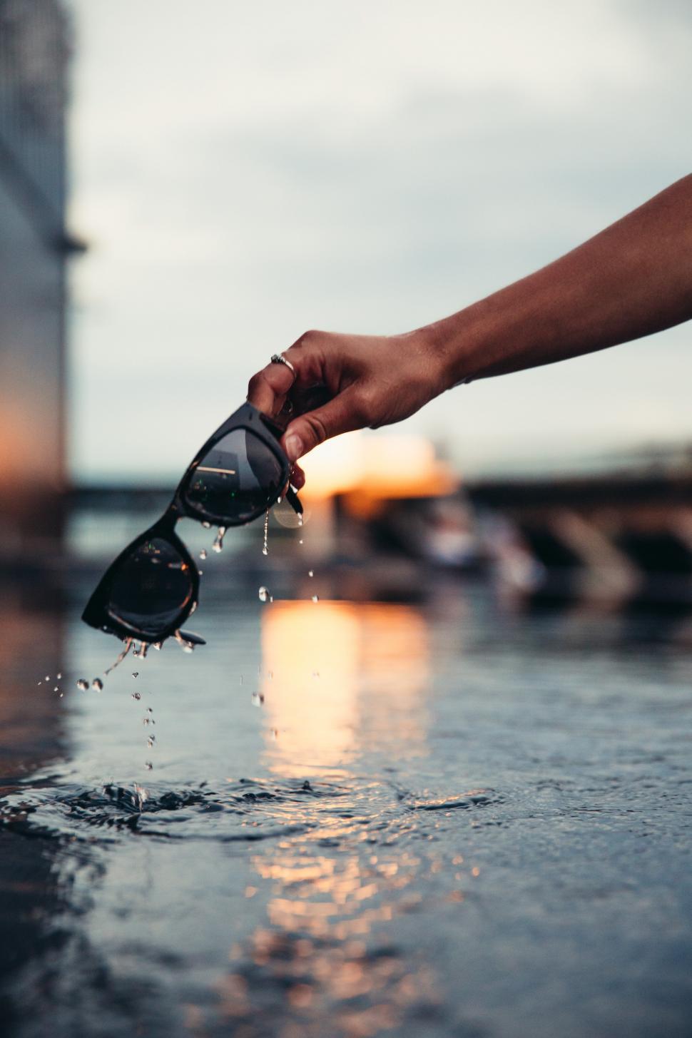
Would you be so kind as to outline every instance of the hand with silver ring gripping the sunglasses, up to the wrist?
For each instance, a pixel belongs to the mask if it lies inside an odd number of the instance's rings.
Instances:
[[[408,418],[447,388],[442,358],[424,331],[307,331],[283,356],[295,376],[285,364],[268,364],[250,379],[248,400],[275,418],[288,412],[282,445],[292,462],[339,433]],[[302,486],[298,466],[294,475]]]

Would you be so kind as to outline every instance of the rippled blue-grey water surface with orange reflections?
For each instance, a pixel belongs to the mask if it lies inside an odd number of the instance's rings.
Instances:
[[[685,622],[259,583],[101,692],[2,600],[4,1033],[689,1035]]]

